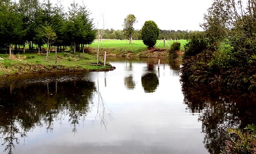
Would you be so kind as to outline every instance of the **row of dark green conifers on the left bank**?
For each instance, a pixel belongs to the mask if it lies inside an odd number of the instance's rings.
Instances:
[[[56,6],[45,0],[11,0],[0,2],[0,47],[14,45],[20,48],[34,45],[40,51],[42,45],[56,46],[62,50],[70,46],[74,51],[83,50],[96,37],[93,20],[84,4],[78,6],[75,1],[64,12],[61,0]]]

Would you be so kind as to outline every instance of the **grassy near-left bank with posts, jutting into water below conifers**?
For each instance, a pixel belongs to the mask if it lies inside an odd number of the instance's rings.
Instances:
[[[0,54],[4,60],[0,60],[0,77],[14,74],[32,72],[56,72],[56,71],[96,71],[111,70],[112,66],[97,64],[97,57],[88,54],[58,53],[55,64],[55,53],[50,53],[46,60],[45,54],[26,53],[21,55]]]

